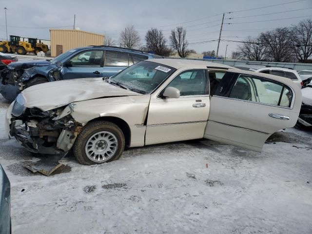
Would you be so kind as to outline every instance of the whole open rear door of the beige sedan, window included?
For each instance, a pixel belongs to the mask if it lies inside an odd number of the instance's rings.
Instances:
[[[228,72],[211,98],[204,137],[261,152],[271,134],[295,125],[301,94],[294,86]]]

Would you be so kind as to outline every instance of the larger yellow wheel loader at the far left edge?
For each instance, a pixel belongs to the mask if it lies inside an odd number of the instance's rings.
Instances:
[[[20,36],[10,35],[9,41],[0,41],[0,52],[2,53],[18,53],[19,55],[25,55],[33,52],[31,43],[21,41]]]

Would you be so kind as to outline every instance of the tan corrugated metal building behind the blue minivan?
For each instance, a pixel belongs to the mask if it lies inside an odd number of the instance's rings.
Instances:
[[[52,57],[76,47],[102,45],[104,43],[104,35],[80,30],[50,29],[50,37]]]

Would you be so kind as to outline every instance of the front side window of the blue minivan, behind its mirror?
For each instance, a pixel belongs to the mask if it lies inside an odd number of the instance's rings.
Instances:
[[[103,58],[102,50],[85,51],[70,59],[73,67],[100,67]]]

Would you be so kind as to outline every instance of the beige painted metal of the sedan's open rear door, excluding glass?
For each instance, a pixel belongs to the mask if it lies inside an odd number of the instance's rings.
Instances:
[[[301,107],[301,90],[291,79],[267,74],[258,75],[248,71],[231,70],[231,72],[270,78],[284,83],[292,89],[293,98],[290,108],[216,95],[211,99],[209,120],[204,137],[261,152],[268,137],[281,129],[290,128],[296,124]],[[270,113],[290,119],[273,118],[269,116]],[[265,124],[259,124],[261,122],[265,122]]]

